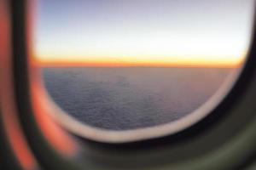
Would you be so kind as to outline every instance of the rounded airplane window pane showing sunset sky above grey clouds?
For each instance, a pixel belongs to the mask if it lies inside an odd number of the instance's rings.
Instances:
[[[253,24],[253,0],[37,6],[33,64],[60,109],[55,118],[80,133],[158,136],[200,121],[236,81]]]

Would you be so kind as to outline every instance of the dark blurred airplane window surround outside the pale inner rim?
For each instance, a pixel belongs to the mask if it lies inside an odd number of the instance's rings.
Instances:
[[[247,63],[235,87],[210,116],[195,126],[168,137],[128,144],[106,144],[83,139],[79,156],[65,156],[50,144],[34,117],[29,85],[26,47],[26,3],[30,1],[0,1],[12,3],[12,41],[10,48],[1,45],[1,166],[3,169],[246,169],[254,166],[256,121],[254,104],[255,31]],[[0,7],[2,9],[2,7]],[[9,8],[3,6],[3,8]],[[2,11],[2,10],[1,10]],[[1,25],[1,32],[3,30]],[[7,30],[6,30],[7,31]],[[8,33],[6,35],[9,35]],[[10,36],[10,35],[9,35]],[[10,37],[9,37],[10,38]],[[8,42],[8,39],[6,42]],[[1,37],[2,39],[2,37]],[[2,42],[2,40],[1,40]],[[5,41],[3,41],[5,42]],[[12,51],[11,56],[2,52]],[[3,51],[2,51],[3,50]],[[2,60],[3,59],[3,60]],[[7,59],[10,59],[8,61]],[[2,62],[3,61],[3,62]],[[4,73],[5,72],[5,73]],[[3,74],[4,73],[4,74]],[[9,77],[13,78],[9,80]],[[10,89],[7,88],[11,85]],[[11,95],[10,93],[14,93]],[[10,94],[10,95],[9,95]],[[13,96],[12,101],[7,96]],[[11,102],[11,104],[9,104]],[[5,109],[10,105],[16,111]],[[21,132],[8,131],[12,124],[7,115],[14,115]],[[243,119],[241,119],[241,115]],[[45,120],[44,120],[45,121]],[[47,119],[46,119],[47,121]],[[17,125],[17,124],[16,124]],[[15,152],[11,134],[20,133],[26,142],[18,141],[28,151],[34,167],[26,167],[24,156]],[[49,134],[48,134],[49,135]],[[56,135],[57,136],[57,135]],[[17,140],[16,140],[17,143]],[[90,149],[88,149],[90,148]],[[195,150],[197,149],[197,150]],[[24,153],[24,150],[20,150]],[[27,153],[27,152],[26,152]],[[21,161],[23,160],[23,161]],[[27,161],[31,162],[31,161]],[[23,165],[23,166],[22,166]],[[253,168],[253,167],[252,167]]]

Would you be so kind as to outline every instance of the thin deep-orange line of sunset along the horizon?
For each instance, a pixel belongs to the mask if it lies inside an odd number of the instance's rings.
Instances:
[[[228,60],[190,60],[190,61],[111,61],[111,60],[55,60],[37,59],[30,60],[32,65],[40,67],[197,67],[197,68],[239,68],[244,64],[244,59],[230,62]]]

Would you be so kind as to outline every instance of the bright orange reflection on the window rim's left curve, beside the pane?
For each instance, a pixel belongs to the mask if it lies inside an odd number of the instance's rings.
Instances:
[[[35,10],[37,8],[37,4],[32,0],[27,1],[29,3],[28,6],[26,6],[26,52],[29,67],[28,70],[31,73],[29,75],[29,85],[32,110],[35,119],[38,122],[38,127],[44,134],[44,137],[49,141],[49,144],[65,156],[74,156],[78,152],[78,144],[49,116],[50,112],[55,110],[44,93],[44,88],[42,87],[38,70],[33,67],[31,62],[31,56],[33,55],[31,48],[32,32],[34,31],[33,20],[36,18]]]

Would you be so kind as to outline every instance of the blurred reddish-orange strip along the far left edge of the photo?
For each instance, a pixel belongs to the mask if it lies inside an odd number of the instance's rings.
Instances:
[[[26,142],[25,135],[21,130],[17,117],[17,105],[15,104],[15,94],[12,79],[11,53],[10,53],[10,15],[8,1],[0,1],[0,112],[3,118],[3,126],[9,144],[14,151],[20,166],[26,170],[33,170],[38,167],[38,162],[32,154]]]

